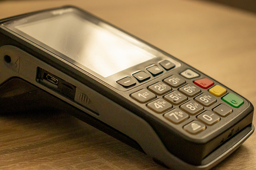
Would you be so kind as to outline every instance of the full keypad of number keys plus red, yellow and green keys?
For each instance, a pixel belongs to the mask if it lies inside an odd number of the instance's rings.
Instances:
[[[193,70],[187,69],[180,75],[171,75],[130,96],[157,115],[162,114],[174,126],[181,124],[183,130],[193,135],[218,124],[232,113],[232,107],[243,104],[242,98],[208,78],[200,79]]]

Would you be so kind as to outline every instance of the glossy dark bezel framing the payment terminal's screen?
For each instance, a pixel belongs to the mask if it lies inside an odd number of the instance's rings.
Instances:
[[[122,70],[120,72],[117,72],[117,73],[115,73],[113,75],[110,75],[108,77],[103,77],[100,74],[94,72],[93,70],[87,68],[86,66],[83,66],[82,64],[74,61],[73,59],[71,59],[71,58],[65,56],[64,54],[58,52],[57,50],[41,43],[40,41],[34,39],[33,37],[25,34],[24,32],[22,32],[22,31],[20,31],[19,29],[16,28],[17,26],[20,26],[20,25],[36,22],[36,21],[39,21],[39,20],[44,20],[44,19],[47,19],[47,18],[50,18],[50,17],[54,17],[54,16],[57,16],[57,15],[63,15],[63,14],[66,14],[66,13],[73,13],[73,14],[78,15],[79,17],[81,17],[85,20],[88,20],[89,22],[92,22],[94,24],[99,24],[99,23],[104,24],[105,26],[109,27],[110,29],[114,29],[117,32],[117,34],[120,34],[121,36],[123,36],[122,38],[126,39],[127,41],[128,41],[128,39],[135,40],[136,41],[136,46],[138,46],[140,48],[143,48],[143,50],[153,54],[156,57],[152,58],[150,60],[147,60],[143,63],[138,63],[137,65],[134,65],[134,66],[132,66],[130,68],[127,68],[125,70]],[[165,54],[157,51],[156,49],[154,49],[151,46],[143,43],[142,41],[134,38],[133,36],[127,34],[126,32],[123,32],[122,30],[112,26],[111,24],[109,24],[109,23],[107,23],[107,22],[105,22],[105,21],[103,21],[103,20],[101,20],[101,19],[99,19],[95,16],[92,16],[89,13],[86,13],[84,11],[80,11],[76,8],[67,7],[67,8],[57,9],[57,10],[43,11],[43,12],[40,12],[40,13],[36,13],[36,14],[33,14],[33,15],[26,16],[24,18],[19,18],[19,19],[16,19],[16,20],[11,20],[11,21],[5,22],[5,23],[2,24],[2,26],[7,28],[8,30],[10,30],[11,32],[14,32],[14,33],[18,34],[19,36],[27,39],[32,44],[40,46],[41,48],[47,50],[48,52],[62,58],[63,60],[67,61],[68,63],[72,64],[73,66],[78,67],[79,69],[82,69],[83,71],[86,71],[87,73],[93,75],[94,77],[99,78],[100,80],[106,82],[107,84],[111,85],[112,87],[114,87],[116,89],[119,89],[119,90],[122,90],[122,91],[126,91],[128,89],[122,87],[121,85],[116,83],[116,81],[129,76],[129,77],[131,77],[132,79],[134,79],[136,81],[136,85],[133,86],[133,87],[136,87],[140,84],[148,82],[148,81],[152,80],[152,78],[155,78],[155,77],[153,77],[149,72],[147,72],[147,70],[145,68],[152,65],[152,64],[157,64],[161,60],[168,59],[168,60],[172,61],[173,63],[176,64],[175,68],[181,66],[181,64],[178,61],[176,61],[176,60],[166,56]],[[143,71],[147,72],[151,76],[151,79],[147,80],[143,83],[139,83],[132,76],[132,74],[134,74],[134,73],[136,73],[140,70],[143,70]],[[166,71],[164,70],[164,72],[166,72]]]

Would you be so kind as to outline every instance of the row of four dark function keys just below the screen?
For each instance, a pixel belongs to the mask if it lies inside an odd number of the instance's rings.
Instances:
[[[160,61],[159,62],[160,66],[162,66],[162,68],[164,68],[166,71],[172,69],[175,67],[175,64],[170,62],[169,60],[163,60],[163,61]],[[153,64],[151,66],[148,66],[146,68],[146,70],[153,76],[157,76],[161,73],[163,73],[163,69],[161,67],[159,67],[158,65],[156,64]],[[145,71],[143,70],[140,70],[136,73],[134,73],[132,75],[139,83],[143,82],[143,81],[146,81],[148,79],[150,79],[150,75],[147,74]],[[132,87],[134,85],[136,85],[136,81],[133,80],[131,77],[125,77],[121,80],[118,80],[117,81],[118,84],[122,85],[123,87],[125,88],[129,88],[129,87]]]

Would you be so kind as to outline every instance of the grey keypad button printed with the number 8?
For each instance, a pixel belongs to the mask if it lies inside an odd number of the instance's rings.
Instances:
[[[204,110],[204,107],[197,102],[190,100],[183,105],[181,105],[181,109],[186,111],[187,113],[191,115],[195,115],[199,113],[200,111]]]

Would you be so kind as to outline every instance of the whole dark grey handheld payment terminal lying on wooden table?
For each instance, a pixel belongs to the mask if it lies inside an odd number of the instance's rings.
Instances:
[[[0,114],[52,108],[173,169],[209,169],[254,131],[247,99],[71,6],[0,20]]]

